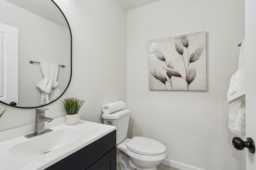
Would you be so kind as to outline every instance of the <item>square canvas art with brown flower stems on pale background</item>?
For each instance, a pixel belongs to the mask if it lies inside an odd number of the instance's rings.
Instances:
[[[206,32],[148,42],[149,89],[206,91]]]

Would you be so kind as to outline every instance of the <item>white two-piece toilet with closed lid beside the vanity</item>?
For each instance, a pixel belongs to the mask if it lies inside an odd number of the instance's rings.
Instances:
[[[122,170],[156,170],[166,157],[165,146],[151,138],[135,136],[127,138],[130,111],[124,109],[102,114],[103,123],[116,126],[116,147],[120,150],[117,154]]]

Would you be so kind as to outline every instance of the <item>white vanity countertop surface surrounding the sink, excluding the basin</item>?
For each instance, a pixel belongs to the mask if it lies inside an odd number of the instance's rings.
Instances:
[[[46,123],[47,124],[47,123]],[[48,166],[62,160],[68,155],[80,150],[81,148],[91,144],[92,142],[98,140],[99,138],[105,136],[106,134],[116,130],[116,127],[104,125],[100,123],[93,123],[89,121],[79,120],[76,125],[66,125],[63,123],[61,125],[51,127],[52,132],[58,130],[72,128],[82,130],[85,135],[79,137],[79,140],[71,142],[65,146],[58,147],[47,154],[41,154],[38,156],[17,156],[10,153],[10,148],[16,144],[32,140],[33,138],[27,139],[24,135],[10,140],[0,142],[0,169],[1,170],[43,170]],[[16,131],[20,131],[20,128],[17,128]],[[8,130],[6,132],[0,132],[0,138],[6,138],[6,133],[15,133],[15,129]],[[50,134],[49,132],[47,134]],[[47,134],[42,134],[47,135]],[[37,138],[36,136],[34,138]],[[38,146],[40,147],[40,145]]]

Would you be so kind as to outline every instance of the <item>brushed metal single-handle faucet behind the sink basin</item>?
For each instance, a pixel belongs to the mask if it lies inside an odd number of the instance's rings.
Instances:
[[[26,138],[32,138],[38,136],[40,134],[51,132],[52,129],[44,129],[44,122],[51,122],[53,119],[50,117],[45,117],[45,111],[49,110],[43,107],[36,108],[36,126],[35,132],[31,134],[27,134]]]

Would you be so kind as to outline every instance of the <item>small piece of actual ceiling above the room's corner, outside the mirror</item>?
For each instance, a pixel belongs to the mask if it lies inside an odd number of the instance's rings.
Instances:
[[[159,0],[118,0],[126,10],[132,10],[140,6],[151,4]]]

